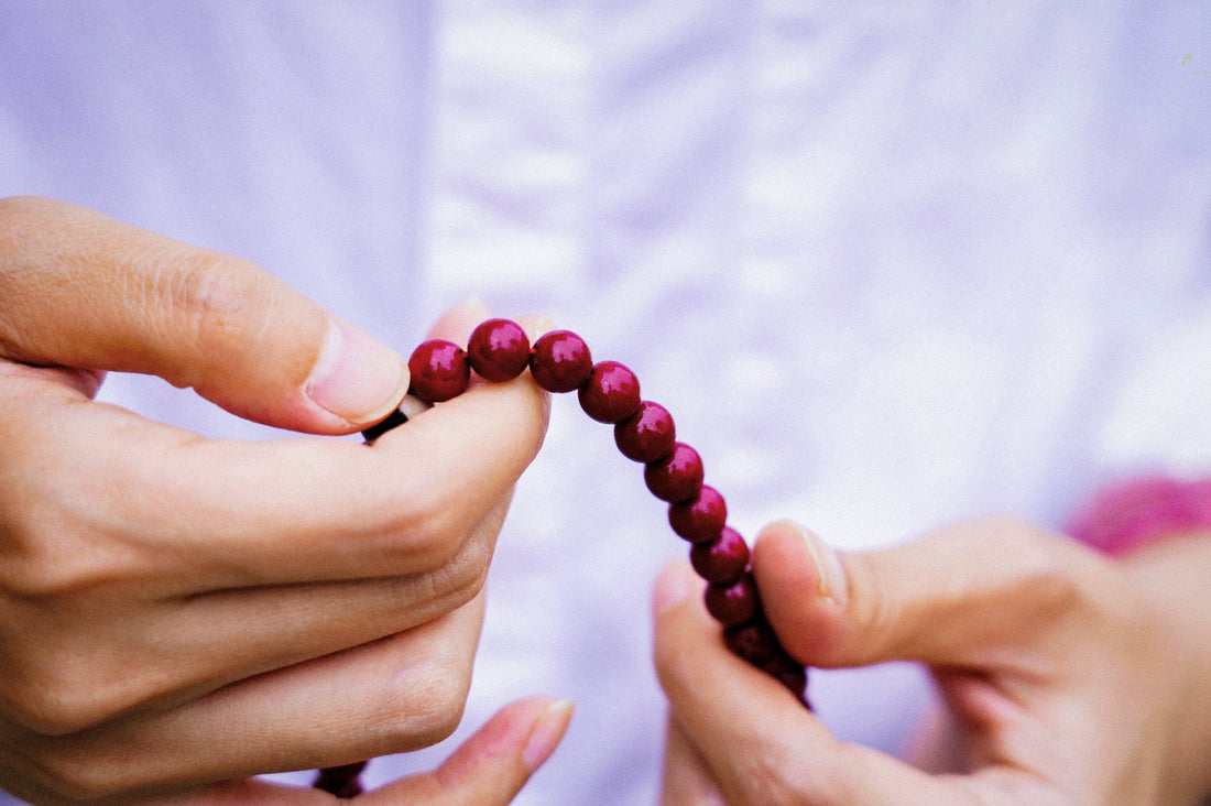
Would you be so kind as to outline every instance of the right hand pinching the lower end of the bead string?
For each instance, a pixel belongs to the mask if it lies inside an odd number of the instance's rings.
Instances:
[[[947,710],[920,767],[834,739],[723,647],[673,567],[655,595],[664,802],[1196,802],[1211,791],[1209,545],[1175,539],[1118,564],[988,519],[836,554],[793,525],[767,528],[754,573],[794,657],[931,669]]]

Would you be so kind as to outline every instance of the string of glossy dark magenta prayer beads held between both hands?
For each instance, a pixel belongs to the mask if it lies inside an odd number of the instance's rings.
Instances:
[[[459,396],[470,385],[472,371],[484,381],[501,383],[527,368],[539,387],[551,393],[576,391],[586,415],[614,427],[619,451],[644,465],[648,490],[668,503],[670,526],[690,543],[690,564],[707,582],[706,608],[723,625],[727,646],[808,705],[807,670],[786,652],[765,621],[748,564],[748,544],[728,526],[723,496],[702,482],[698,451],[677,441],[672,416],[664,406],[639,396],[639,381],[630,368],[618,361],[593,364],[589,345],[575,333],[551,331],[532,347],[517,322],[489,319],[475,328],[465,350],[454,342],[427,341],[408,360],[408,398],[362,435],[371,444],[430,405]],[[365,766],[357,762],[321,770],[314,785],[352,798],[362,791],[358,776]]]

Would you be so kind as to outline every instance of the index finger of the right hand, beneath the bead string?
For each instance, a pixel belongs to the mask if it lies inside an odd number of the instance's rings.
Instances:
[[[658,582],[656,670],[676,728],[724,802],[970,802],[958,787],[833,738],[777,681],[727,650],[691,575],[676,564]]]

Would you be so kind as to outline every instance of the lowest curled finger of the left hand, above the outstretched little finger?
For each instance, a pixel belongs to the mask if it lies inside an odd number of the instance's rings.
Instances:
[[[4,768],[24,767],[46,790],[128,802],[427,747],[461,718],[482,619],[481,594],[407,633],[240,681],[188,707],[68,736],[10,730],[0,736]]]

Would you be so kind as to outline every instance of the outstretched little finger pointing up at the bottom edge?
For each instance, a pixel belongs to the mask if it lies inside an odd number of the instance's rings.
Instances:
[[[558,747],[572,703],[532,697],[498,711],[437,770],[363,795],[367,804],[504,806]]]

